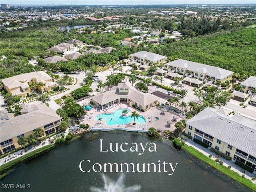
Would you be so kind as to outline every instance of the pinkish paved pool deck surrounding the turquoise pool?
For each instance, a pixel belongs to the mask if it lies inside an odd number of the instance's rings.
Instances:
[[[92,110],[89,110],[87,111],[87,115],[83,118],[83,123],[84,124],[89,124],[90,127],[92,128],[92,131],[93,130],[104,130],[104,131],[108,131],[108,130],[114,130],[114,129],[120,129],[120,130],[127,130],[127,131],[141,131],[141,132],[147,132],[148,131],[148,128],[150,127],[154,127],[158,130],[170,130],[170,131],[174,131],[175,130],[175,126],[174,124],[178,121],[180,121],[182,118],[178,118],[176,120],[176,122],[173,122],[171,126],[167,126],[167,121],[168,120],[172,120],[173,119],[173,116],[174,114],[171,114],[169,112],[165,112],[164,115],[160,115],[161,111],[158,110],[157,108],[153,107],[149,110],[147,110],[146,112],[141,112],[140,110],[136,110],[135,108],[133,107],[130,107],[128,104],[126,103],[122,103],[120,105],[117,105],[115,104],[116,107],[114,108],[111,108],[110,110],[107,110],[106,112],[105,111],[101,111],[101,112],[98,112],[97,110],[95,109],[92,109]],[[136,110],[136,112],[143,116],[145,119],[146,119],[146,123],[144,124],[136,124],[136,126],[134,126],[131,122],[131,123],[128,123],[128,124],[117,124],[117,125],[113,125],[113,126],[108,126],[106,125],[106,119],[104,120],[101,120],[101,124],[100,126],[95,126],[95,124],[99,124],[100,121],[99,120],[95,120],[94,118],[98,115],[98,114],[103,114],[103,113],[113,113],[115,112],[117,109],[119,108],[127,108],[129,109],[131,112],[133,112],[134,110]],[[88,120],[88,116],[89,114],[91,114],[91,118],[90,120]],[[129,116],[130,113],[127,114],[127,116]],[[152,116],[152,123],[149,123],[149,118],[148,116]],[[155,120],[155,117],[158,117],[159,120],[156,121]],[[136,122],[136,118],[135,118],[135,122]]]

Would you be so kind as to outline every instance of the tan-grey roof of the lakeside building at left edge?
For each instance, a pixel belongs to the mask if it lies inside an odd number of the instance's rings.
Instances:
[[[0,142],[61,120],[60,116],[52,108],[46,106],[46,104],[39,104],[37,107],[39,110],[2,121]]]

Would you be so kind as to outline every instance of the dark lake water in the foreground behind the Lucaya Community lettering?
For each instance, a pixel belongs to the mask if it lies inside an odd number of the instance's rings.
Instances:
[[[31,188],[27,190],[17,189],[1,189],[1,192],[8,191],[31,191],[31,192],[90,192],[95,188],[104,188],[105,186],[111,187],[115,183],[114,187],[119,192],[120,188],[130,187],[128,192],[136,191],[136,188],[141,188],[140,192],[236,192],[236,191],[250,191],[241,184],[228,178],[226,175],[221,174],[216,169],[208,166],[194,157],[191,157],[185,151],[176,151],[170,144],[164,142],[157,142],[150,140],[146,136],[134,132],[103,132],[100,133],[100,137],[94,140],[88,140],[87,137],[92,135],[92,132],[84,134],[78,140],[71,142],[70,144],[62,145],[58,148],[52,149],[33,160],[30,160],[20,166],[18,166],[14,172],[10,173],[3,179],[2,184],[30,184]],[[102,151],[108,149],[109,152],[100,152],[100,140],[102,140]],[[110,143],[126,142],[128,145],[123,145],[124,149],[129,149],[130,144],[133,142],[141,142],[143,146],[156,143],[157,152],[149,152],[148,147],[142,155],[141,147],[138,148],[138,152],[110,152]],[[150,145],[152,146],[152,145]],[[151,148],[152,149],[152,148]],[[113,148],[114,150],[114,148]],[[82,172],[79,169],[79,164],[82,160],[85,161],[81,168],[84,171],[91,169],[91,172]],[[161,166],[161,172],[158,172],[158,161],[161,163],[172,163],[177,166],[171,176],[168,175],[171,169],[170,166],[166,166],[168,172],[163,171]],[[143,163],[154,163],[157,165],[156,172],[141,172],[135,169],[129,169],[130,172],[126,172],[124,169],[124,177],[119,172],[115,172],[116,168],[113,168],[113,172],[107,170],[104,181],[102,178],[102,172],[92,171],[93,164],[96,171],[99,169],[99,164],[104,163],[138,163],[140,170]],[[147,170],[147,169],[146,169]],[[111,178],[111,180],[109,178]],[[123,179],[123,180],[122,180]],[[124,185],[122,185],[122,181]],[[113,187],[113,186],[112,186]],[[106,190],[98,190],[106,191]]]

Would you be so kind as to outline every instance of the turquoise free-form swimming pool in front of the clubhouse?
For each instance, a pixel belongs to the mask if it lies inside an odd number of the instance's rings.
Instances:
[[[126,108],[121,108],[116,110],[114,113],[110,114],[99,114],[97,115],[94,119],[99,120],[101,118],[102,120],[106,119],[106,125],[112,126],[112,125],[124,125],[128,123],[133,123],[134,122],[134,117],[131,118],[131,116],[122,116],[122,111],[127,110],[128,114],[131,112],[129,109]],[[135,117],[135,122],[138,124],[144,124],[146,123],[146,119],[142,117],[141,115],[138,116],[138,119]]]

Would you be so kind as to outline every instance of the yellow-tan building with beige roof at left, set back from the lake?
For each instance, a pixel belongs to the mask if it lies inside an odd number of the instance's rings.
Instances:
[[[38,90],[41,92],[52,91],[56,84],[52,82],[52,78],[46,72],[36,71],[31,73],[25,73],[2,79],[4,88],[7,92],[12,93],[20,98],[26,98],[30,96],[31,90],[29,84],[34,82],[38,84],[43,83],[43,86],[38,86]]]

